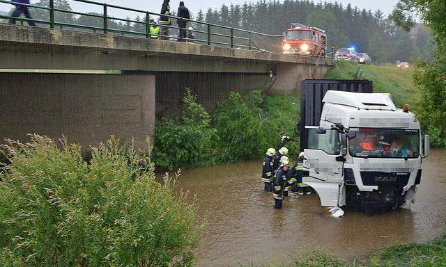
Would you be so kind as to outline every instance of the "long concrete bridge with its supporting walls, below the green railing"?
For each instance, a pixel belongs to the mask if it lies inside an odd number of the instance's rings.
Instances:
[[[0,138],[66,134],[81,145],[114,133],[153,136],[185,88],[211,110],[230,91],[298,94],[330,60],[247,49],[0,24]],[[271,77],[275,80],[272,83]]]

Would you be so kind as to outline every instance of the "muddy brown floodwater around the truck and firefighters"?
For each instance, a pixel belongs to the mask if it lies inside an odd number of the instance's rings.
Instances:
[[[317,195],[291,195],[273,209],[260,181],[261,163],[247,162],[184,171],[179,186],[196,194],[206,231],[199,266],[236,266],[287,260],[315,246],[356,258],[388,245],[422,242],[446,234],[446,150],[423,162],[422,183],[410,210],[379,216],[348,211],[332,218]]]

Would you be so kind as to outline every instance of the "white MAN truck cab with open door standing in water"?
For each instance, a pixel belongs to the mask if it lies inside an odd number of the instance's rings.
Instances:
[[[320,125],[306,128],[302,181],[322,206],[379,213],[413,201],[429,136],[390,94],[329,90]]]

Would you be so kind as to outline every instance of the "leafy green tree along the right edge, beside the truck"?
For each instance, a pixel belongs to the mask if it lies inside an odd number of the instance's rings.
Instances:
[[[419,60],[414,74],[420,92],[417,115],[431,135],[432,144],[446,147],[446,1],[401,0],[392,19],[408,30],[414,25],[414,13],[431,29],[436,44],[433,62]]]

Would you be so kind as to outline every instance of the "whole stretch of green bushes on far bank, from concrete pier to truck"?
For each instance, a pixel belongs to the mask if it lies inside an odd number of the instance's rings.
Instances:
[[[158,118],[155,129],[155,164],[170,170],[260,159],[268,147],[277,148],[282,135],[296,137],[299,97],[231,92],[212,115],[190,90],[183,100],[180,118]],[[297,156],[298,143],[286,146]]]

